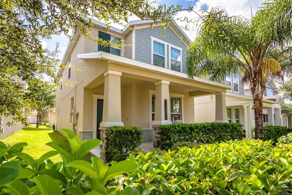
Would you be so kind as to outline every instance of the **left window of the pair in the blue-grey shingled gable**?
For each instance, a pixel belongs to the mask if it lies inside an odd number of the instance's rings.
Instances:
[[[153,40],[153,65],[165,67],[165,45]]]

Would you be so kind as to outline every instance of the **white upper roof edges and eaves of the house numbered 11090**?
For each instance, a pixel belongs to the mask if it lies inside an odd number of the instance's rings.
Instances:
[[[89,21],[89,18],[84,18],[84,20]],[[94,20],[91,18],[91,23],[93,24],[94,27],[99,28],[101,30],[105,30],[107,31],[107,27],[105,23],[102,23],[100,21]],[[131,32],[131,30],[129,28],[134,28],[137,26],[146,26],[146,25],[152,25],[154,23],[154,20],[133,20],[130,21],[123,29],[118,29],[118,28],[114,28],[114,27],[110,27],[109,32],[114,32],[118,35],[121,35],[123,37],[125,37],[126,35],[128,35],[128,33]],[[183,32],[183,30],[175,23],[175,21],[172,20],[172,23],[169,24],[170,27],[175,31],[175,33],[179,36],[183,38],[183,41],[187,44],[190,45],[191,40],[190,38]],[[148,26],[147,26],[148,27]],[[145,27],[146,28],[146,27]],[[76,40],[79,37],[79,33],[78,32],[73,32],[72,33],[72,40],[74,40],[74,42],[69,41],[67,48],[65,50],[65,54],[63,56],[62,59],[62,63],[66,63],[68,61],[68,58],[72,52],[72,49],[74,48],[74,45],[76,43]],[[58,73],[60,73],[60,70],[58,71]]]

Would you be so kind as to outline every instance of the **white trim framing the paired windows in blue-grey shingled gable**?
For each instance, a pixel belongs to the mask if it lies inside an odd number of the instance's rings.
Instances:
[[[157,39],[157,38],[152,37],[152,36],[150,36],[150,37],[151,37],[151,64],[153,64],[153,54],[159,55],[159,54],[153,53],[153,41],[157,41],[157,42],[160,42],[160,43],[164,44],[164,56],[162,56],[162,57],[164,57],[164,68],[171,69],[171,64],[170,64],[170,62],[171,62],[171,47],[173,47],[175,49],[180,50],[180,72],[183,72],[183,56],[182,56],[183,55],[183,49],[178,47],[178,46],[172,45],[172,44],[170,44],[168,42],[165,42],[165,41],[163,41],[161,39]],[[168,53],[167,53],[167,46],[168,46]],[[166,54],[168,56],[166,56]],[[161,55],[159,55],[159,56],[161,56]],[[169,61],[169,64],[167,64],[167,59]],[[177,61],[177,60],[175,60],[175,61]]]

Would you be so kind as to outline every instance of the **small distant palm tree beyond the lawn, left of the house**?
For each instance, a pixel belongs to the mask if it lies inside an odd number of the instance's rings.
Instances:
[[[44,91],[37,98],[36,128],[39,127],[41,113],[50,109],[50,108],[55,107],[55,103],[56,103],[56,91],[55,90]]]

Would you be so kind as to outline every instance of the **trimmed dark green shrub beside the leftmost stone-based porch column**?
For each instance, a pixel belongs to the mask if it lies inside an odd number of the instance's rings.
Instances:
[[[129,150],[142,143],[142,129],[133,126],[111,126],[107,130],[109,155],[114,161],[125,160]]]

